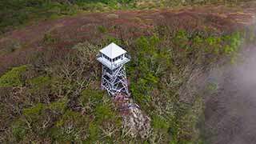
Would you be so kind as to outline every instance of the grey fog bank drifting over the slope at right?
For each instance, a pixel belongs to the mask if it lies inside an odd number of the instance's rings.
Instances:
[[[210,78],[217,83],[217,90],[206,96],[206,142],[256,143],[255,49],[245,48],[238,64],[212,70]]]

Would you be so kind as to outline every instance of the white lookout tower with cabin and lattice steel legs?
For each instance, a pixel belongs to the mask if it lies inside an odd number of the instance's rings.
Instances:
[[[120,93],[130,96],[124,66],[130,61],[130,55],[126,50],[112,42],[100,50],[97,60],[102,63],[102,90],[113,97]]]

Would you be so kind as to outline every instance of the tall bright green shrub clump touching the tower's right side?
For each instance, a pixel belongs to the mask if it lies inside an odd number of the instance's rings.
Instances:
[[[136,41],[136,53],[133,61],[128,66],[131,84],[130,90],[134,100],[140,106],[148,105],[151,91],[158,86],[158,66],[161,66],[162,51],[158,49],[160,39],[157,36],[151,38],[138,38]]]

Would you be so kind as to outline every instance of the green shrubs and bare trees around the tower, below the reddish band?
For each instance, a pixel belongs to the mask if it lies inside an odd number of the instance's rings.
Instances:
[[[59,58],[46,58],[51,51],[39,53],[30,65],[2,75],[3,140],[202,142],[196,125],[202,117],[203,99],[194,91],[196,80],[218,58],[234,58],[243,42],[242,33],[206,36],[179,30],[167,35],[167,28],[156,30],[152,37],[128,43],[114,39],[121,46],[129,46],[133,56],[128,66],[130,90],[134,101],[152,118],[153,129],[147,138],[132,138],[121,128],[118,111],[99,90],[101,73],[95,55],[101,47],[86,42]]]

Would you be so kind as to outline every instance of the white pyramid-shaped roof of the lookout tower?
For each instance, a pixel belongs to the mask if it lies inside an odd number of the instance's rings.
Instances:
[[[99,51],[111,59],[117,58],[122,54],[126,54],[126,50],[123,50],[120,46],[116,45],[114,42],[110,43],[110,45],[104,47],[102,50],[99,50]]]

